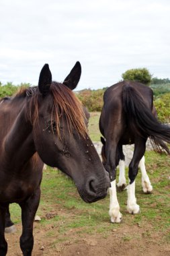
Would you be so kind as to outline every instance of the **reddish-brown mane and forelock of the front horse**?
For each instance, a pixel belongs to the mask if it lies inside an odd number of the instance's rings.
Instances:
[[[15,94],[16,98],[26,98],[27,117],[32,125],[38,123],[38,87],[25,88]],[[70,135],[73,131],[77,131],[79,135],[85,137],[87,128],[85,126],[85,114],[83,106],[75,94],[64,84],[52,82],[50,86],[50,94],[52,95],[52,111],[51,126],[55,121],[55,129],[58,137],[60,137],[60,121],[65,117],[67,128]],[[54,129],[52,127],[52,131]]]

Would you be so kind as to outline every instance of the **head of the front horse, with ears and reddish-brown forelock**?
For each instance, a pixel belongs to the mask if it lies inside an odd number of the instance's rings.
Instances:
[[[90,203],[107,195],[110,181],[87,134],[85,108],[72,92],[80,76],[77,62],[62,84],[52,82],[50,69],[44,65],[30,109],[40,158],[69,175],[82,199]]]

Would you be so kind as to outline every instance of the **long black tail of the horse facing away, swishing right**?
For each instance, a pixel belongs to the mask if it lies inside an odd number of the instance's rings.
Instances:
[[[142,137],[150,137],[156,152],[170,154],[170,150],[164,142],[170,143],[169,125],[160,123],[154,117],[152,110],[146,106],[140,94],[131,86],[123,87],[122,100],[130,129]]]

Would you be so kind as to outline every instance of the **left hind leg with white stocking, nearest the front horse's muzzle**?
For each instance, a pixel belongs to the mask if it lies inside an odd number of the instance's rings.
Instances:
[[[109,214],[110,214],[111,222],[120,223],[122,221],[122,214],[120,213],[120,205],[118,203],[117,192],[116,192],[116,144],[109,143],[107,147],[107,140],[106,140],[106,152],[108,152],[107,162],[109,160],[108,165],[110,168],[110,181],[111,181],[111,187],[109,189],[110,191]]]

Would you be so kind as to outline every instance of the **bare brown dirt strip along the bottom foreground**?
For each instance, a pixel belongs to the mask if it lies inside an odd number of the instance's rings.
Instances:
[[[58,239],[58,227],[43,226],[40,223],[34,224],[34,250],[33,256],[60,255],[60,256],[169,256],[170,245],[161,241],[161,232],[156,232],[148,224],[144,228],[138,224],[128,226],[120,224],[117,229],[113,225],[112,231],[107,235],[83,234],[81,229],[71,229],[67,233],[60,234]],[[21,256],[19,248],[19,236],[22,226],[17,226],[15,234],[6,234],[8,242],[8,253],[10,256]],[[77,232],[79,231],[79,232]]]

